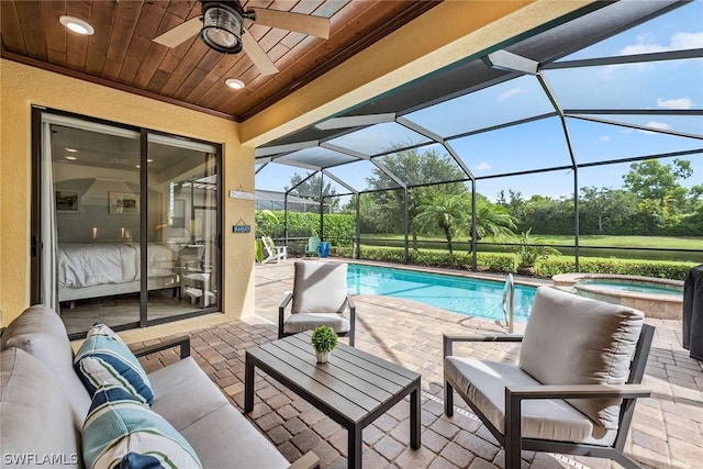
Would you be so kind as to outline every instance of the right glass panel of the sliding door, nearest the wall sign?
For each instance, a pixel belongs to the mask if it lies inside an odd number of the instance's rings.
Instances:
[[[216,148],[149,134],[147,320],[219,308]]]

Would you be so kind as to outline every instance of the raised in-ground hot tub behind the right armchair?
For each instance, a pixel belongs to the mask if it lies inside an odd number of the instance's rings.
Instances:
[[[623,304],[648,317],[681,320],[683,282],[654,277],[611,273],[560,273],[551,278],[557,288],[581,297]]]

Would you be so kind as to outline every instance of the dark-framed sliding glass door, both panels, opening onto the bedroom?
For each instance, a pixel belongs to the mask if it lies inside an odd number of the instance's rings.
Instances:
[[[69,334],[219,309],[215,145],[36,109],[32,302]]]

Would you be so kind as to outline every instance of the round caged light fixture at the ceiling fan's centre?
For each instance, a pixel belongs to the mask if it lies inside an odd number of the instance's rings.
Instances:
[[[204,2],[202,5],[202,30],[200,37],[208,47],[222,54],[242,51],[244,21],[236,2]]]

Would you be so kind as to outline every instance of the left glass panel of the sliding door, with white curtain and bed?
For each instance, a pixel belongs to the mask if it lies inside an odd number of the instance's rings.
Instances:
[[[45,115],[44,304],[69,334],[140,322],[140,134]],[[53,199],[53,202],[52,202]],[[56,278],[48,280],[49,272]],[[53,291],[52,291],[53,290]]]

